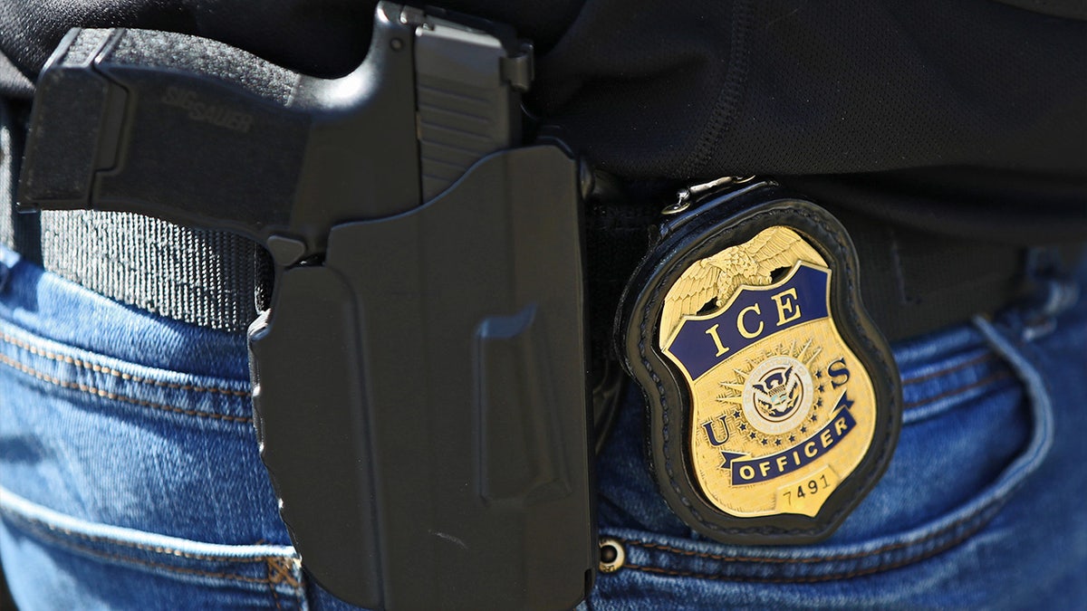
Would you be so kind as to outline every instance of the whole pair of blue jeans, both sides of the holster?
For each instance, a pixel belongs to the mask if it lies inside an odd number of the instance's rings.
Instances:
[[[1087,286],[1087,267],[1078,274]],[[904,425],[827,541],[704,540],[658,496],[642,406],[599,459],[625,552],[587,609],[1087,604],[1087,300],[900,342]],[[260,462],[245,338],[109,301],[0,250],[0,559],[24,610],[341,604],[301,571]]]

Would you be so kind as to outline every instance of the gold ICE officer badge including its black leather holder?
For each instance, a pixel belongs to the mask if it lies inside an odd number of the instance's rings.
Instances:
[[[698,532],[815,541],[883,474],[901,389],[859,282],[837,220],[773,184],[662,225],[616,332],[661,494]]]

